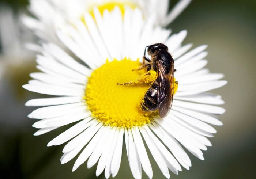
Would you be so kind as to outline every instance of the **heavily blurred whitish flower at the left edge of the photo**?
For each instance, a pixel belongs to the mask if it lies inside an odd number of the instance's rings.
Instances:
[[[20,14],[20,13],[19,13]],[[35,43],[37,39],[30,30],[23,27],[19,15],[7,5],[0,6],[0,76],[8,65],[20,65],[34,58],[35,53],[25,47],[25,42]],[[41,47],[27,43],[27,47],[41,51]],[[1,78],[0,78],[1,79]]]

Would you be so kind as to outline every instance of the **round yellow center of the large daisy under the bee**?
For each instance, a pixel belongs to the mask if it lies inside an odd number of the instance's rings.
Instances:
[[[91,73],[85,99],[93,117],[105,125],[129,128],[150,123],[158,115],[157,111],[139,110],[144,94],[157,78],[155,71],[149,71],[148,77],[143,76],[146,70],[132,71],[141,65],[139,61],[129,59],[107,61]],[[133,84],[117,84],[129,81]]]

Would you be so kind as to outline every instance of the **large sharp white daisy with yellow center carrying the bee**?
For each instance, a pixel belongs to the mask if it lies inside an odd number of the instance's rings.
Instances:
[[[204,69],[207,45],[188,52],[192,44],[181,45],[187,31],[170,35],[170,30],[154,27],[153,17],[145,20],[138,8],[127,8],[123,19],[119,7],[106,10],[103,16],[98,8],[93,12],[93,16],[86,12],[83,20],[56,31],[59,40],[86,65],[54,43],[44,44],[42,54],[37,56],[37,68],[42,72],[31,73],[34,80],[23,87],[57,97],[26,103],[48,106],[29,114],[30,118],[41,119],[33,125],[39,129],[34,135],[74,123],[47,146],[68,141],[62,164],[76,157],[75,171],[87,159],[88,168],[98,161],[96,175],[105,169],[106,178],[116,176],[120,168],[123,137],[134,178],[142,177],[142,168],[149,178],[153,177],[146,147],[166,178],[170,178],[169,170],[178,174],[181,165],[191,167],[184,148],[204,160],[201,150],[211,146],[206,137],[216,133],[209,124],[222,125],[215,115],[225,112],[213,106],[224,103],[221,96],[206,91],[227,83],[219,81],[223,74]],[[174,77],[179,82],[172,109],[163,119],[138,108],[150,84],[117,85],[142,74],[131,69],[141,65],[144,48],[157,42],[169,47],[177,69]]]

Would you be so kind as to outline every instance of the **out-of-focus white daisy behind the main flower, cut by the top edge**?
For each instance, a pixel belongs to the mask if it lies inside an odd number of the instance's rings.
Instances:
[[[23,23],[35,31],[38,37],[62,45],[55,34],[56,27],[66,21],[72,24],[75,19],[83,17],[84,11],[93,16],[94,6],[98,7],[102,15],[105,9],[111,11],[115,6],[120,8],[122,14],[125,7],[139,8],[144,18],[148,19],[151,14],[155,14],[157,18],[155,24],[167,26],[190,2],[191,0],[180,0],[168,12],[169,0],[161,0],[161,3],[158,0],[30,0],[29,11],[36,18],[23,16],[22,19]]]

